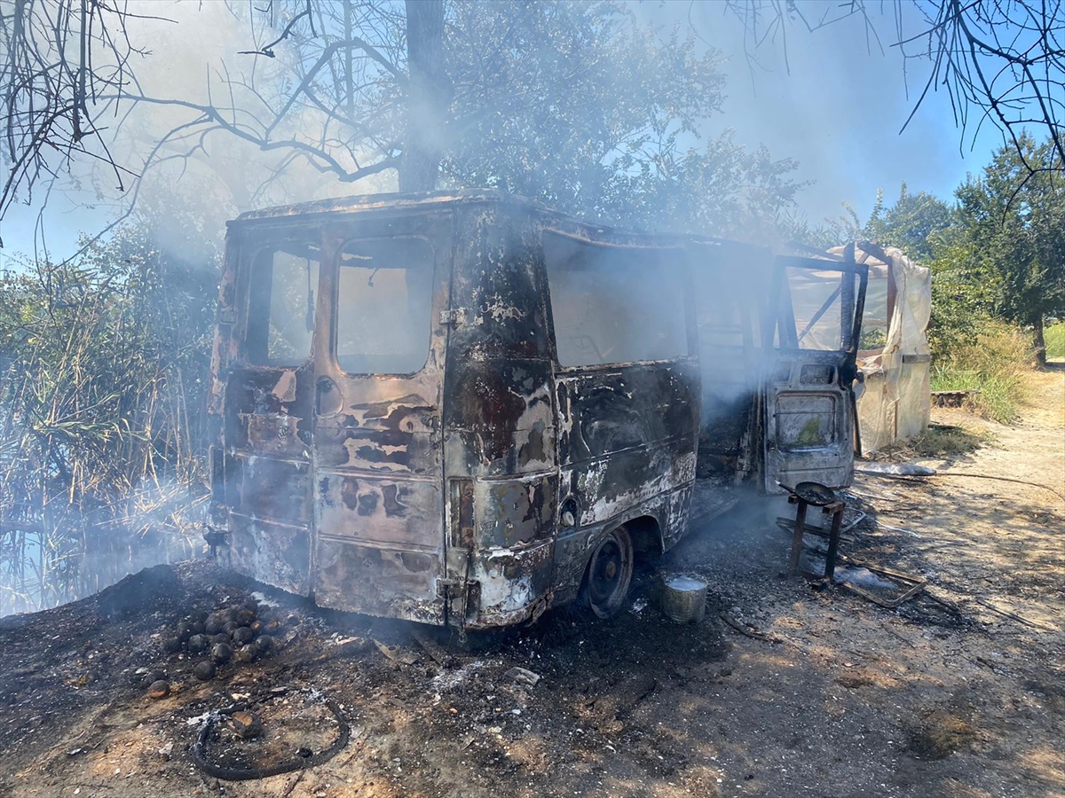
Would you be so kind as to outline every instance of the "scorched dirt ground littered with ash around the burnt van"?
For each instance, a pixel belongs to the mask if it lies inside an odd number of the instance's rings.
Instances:
[[[895,610],[783,576],[787,505],[752,502],[643,566],[619,617],[561,610],[464,647],[267,593],[276,650],[197,682],[202,658],[162,646],[256,589],[202,561],[5,618],[0,796],[1063,796],[1065,364],[1031,381],[1016,427],[935,411],[994,442],[924,461],[950,475],[862,475],[846,497],[868,518],[842,553],[928,580]],[[703,621],[658,610],[673,570],[709,581]],[[263,737],[223,717],[209,762],[328,747],[326,698],[350,738],[295,772],[206,776],[190,748],[234,697],[261,700]]]

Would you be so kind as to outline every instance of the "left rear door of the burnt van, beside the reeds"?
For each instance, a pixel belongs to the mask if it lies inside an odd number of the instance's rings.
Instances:
[[[320,248],[306,226],[231,230],[212,366],[223,425],[212,502],[230,564],[300,595],[310,592]]]

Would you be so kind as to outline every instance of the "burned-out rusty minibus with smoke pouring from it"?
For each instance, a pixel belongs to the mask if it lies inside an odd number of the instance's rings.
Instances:
[[[219,292],[210,539],[339,610],[477,629],[579,597],[610,615],[634,558],[694,515],[849,484],[864,287],[853,259],[490,193],[244,214]]]

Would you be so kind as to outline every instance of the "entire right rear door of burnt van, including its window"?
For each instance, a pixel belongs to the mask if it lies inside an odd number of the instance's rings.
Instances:
[[[443,622],[450,216],[325,231],[315,345],[318,604]]]

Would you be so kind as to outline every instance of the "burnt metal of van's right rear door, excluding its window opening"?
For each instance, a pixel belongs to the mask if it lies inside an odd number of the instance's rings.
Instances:
[[[449,213],[326,226],[314,361],[315,600],[340,610],[442,622],[446,575],[442,421],[453,249]],[[353,375],[330,346],[341,253],[359,242],[416,237],[432,252],[425,364],[411,375]]]

